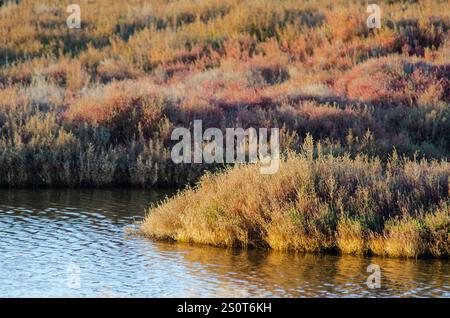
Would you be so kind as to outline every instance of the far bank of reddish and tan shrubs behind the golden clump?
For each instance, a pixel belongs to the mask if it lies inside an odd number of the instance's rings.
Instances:
[[[450,158],[448,1],[0,5],[0,186],[183,186],[176,127],[307,133],[336,153]]]

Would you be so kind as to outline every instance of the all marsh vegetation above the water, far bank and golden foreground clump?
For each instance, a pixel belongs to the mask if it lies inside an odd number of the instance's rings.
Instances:
[[[2,1],[0,186],[188,185],[145,233],[447,256],[449,3],[379,5],[368,29],[352,0],[96,0],[68,29],[60,1]],[[194,120],[280,128],[280,175],[174,164]]]

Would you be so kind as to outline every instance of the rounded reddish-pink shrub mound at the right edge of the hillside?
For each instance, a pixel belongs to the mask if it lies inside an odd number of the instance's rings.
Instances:
[[[351,100],[384,106],[448,101],[448,72],[447,65],[399,57],[372,59],[337,79],[335,90]]]

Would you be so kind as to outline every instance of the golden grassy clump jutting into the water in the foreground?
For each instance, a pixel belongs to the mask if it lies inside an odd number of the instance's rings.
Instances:
[[[143,235],[214,246],[448,257],[448,162],[324,154],[308,138],[274,175],[241,165],[153,207]]]

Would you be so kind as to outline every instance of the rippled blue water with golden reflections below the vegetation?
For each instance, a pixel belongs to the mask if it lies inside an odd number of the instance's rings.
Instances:
[[[448,260],[232,250],[130,236],[167,194],[0,190],[0,297],[450,297]],[[369,264],[381,288],[366,285]]]

